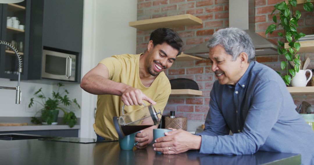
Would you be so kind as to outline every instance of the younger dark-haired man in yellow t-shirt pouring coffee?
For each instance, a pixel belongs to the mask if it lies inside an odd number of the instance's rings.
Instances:
[[[146,105],[162,112],[166,106],[171,86],[163,72],[170,68],[181,53],[182,40],[168,28],[158,28],[151,33],[147,50],[142,54],[122,54],[105,58],[83,77],[81,88],[97,94],[97,111],[93,125],[99,140],[117,140],[112,117]],[[136,135],[137,148],[145,148],[153,140],[152,126]]]

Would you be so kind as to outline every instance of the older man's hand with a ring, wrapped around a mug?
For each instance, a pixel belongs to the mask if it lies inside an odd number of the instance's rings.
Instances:
[[[173,129],[171,132],[166,132],[165,135],[155,140],[153,144],[155,151],[160,151],[163,154],[176,154],[201,148],[201,136],[192,135],[181,129]]]

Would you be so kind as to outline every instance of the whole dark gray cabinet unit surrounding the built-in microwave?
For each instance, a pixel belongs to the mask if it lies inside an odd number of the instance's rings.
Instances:
[[[76,55],[74,83],[81,80],[83,0],[32,0],[28,80],[57,83],[41,77],[43,49]],[[38,81],[39,80],[39,81]],[[61,81],[63,83],[73,83]]]

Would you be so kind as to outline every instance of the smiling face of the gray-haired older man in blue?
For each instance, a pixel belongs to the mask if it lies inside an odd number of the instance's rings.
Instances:
[[[235,85],[249,66],[246,53],[240,53],[236,61],[233,61],[232,55],[226,53],[221,45],[209,49],[209,59],[219,84]]]

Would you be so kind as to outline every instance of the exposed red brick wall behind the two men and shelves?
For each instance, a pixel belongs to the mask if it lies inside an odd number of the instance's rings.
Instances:
[[[255,31],[263,37],[276,42],[279,37],[276,30],[273,34],[265,35],[267,27],[273,23],[270,13],[273,6],[284,0],[255,0]],[[179,33],[186,50],[199,43],[208,41],[211,35],[220,28],[229,27],[229,1],[228,0],[138,0],[138,20],[166,17],[180,14],[192,14],[203,20],[203,25],[172,28]],[[302,12],[299,20],[299,32],[314,34],[314,12]],[[149,34],[152,30],[137,30],[137,53],[146,50]],[[308,68],[314,68],[314,54],[300,54],[301,59],[310,57],[313,62]],[[279,55],[258,56],[256,60],[280,71],[280,61],[284,59]],[[208,61],[175,62],[165,72],[169,79],[190,78],[198,83],[203,96],[176,96],[170,97],[164,114],[176,111],[176,116],[187,117],[188,120],[204,121],[209,109],[209,93],[215,81],[214,73]],[[293,95],[297,106],[304,100],[314,105],[313,95]]]

